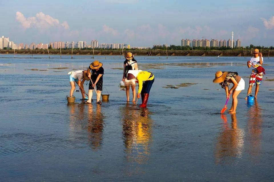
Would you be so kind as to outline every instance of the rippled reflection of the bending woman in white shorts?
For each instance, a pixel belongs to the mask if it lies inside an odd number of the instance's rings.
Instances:
[[[231,163],[233,158],[241,157],[243,150],[242,129],[237,127],[237,118],[235,114],[231,115],[231,127],[227,124],[225,115],[221,115],[224,122],[224,129],[217,138],[215,159],[216,163]]]

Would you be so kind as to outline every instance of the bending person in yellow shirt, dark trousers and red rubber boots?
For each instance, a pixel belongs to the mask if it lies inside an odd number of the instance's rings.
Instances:
[[[138,81],[139,89],[137,98],[140,98],[141,94],[142,104],[140,105],[140,107],[146,107],[146,104],[148,103],[149,92],[154,82],[154,75],[148,71],[129,70],[127,74],[127,79],[136,79]]]

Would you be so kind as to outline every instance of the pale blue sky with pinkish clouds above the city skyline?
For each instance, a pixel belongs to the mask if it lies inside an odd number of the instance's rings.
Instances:
[[[86,41],[134,47],[181,39],[274,46],[274,1],[47,0],[1,3],[0,36],[16,44]]]

